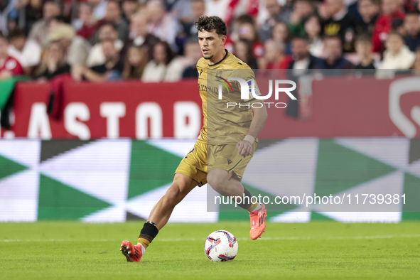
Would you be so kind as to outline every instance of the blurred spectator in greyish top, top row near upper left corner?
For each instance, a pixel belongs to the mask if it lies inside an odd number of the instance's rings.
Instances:
[[[47,47],[50,43],[48,41],[48,21],[58,15],[60,15],[60,6],[58,6],[58,3],[55,1],[46,1],[43,6],[43,18],[33,23],[28,38],[35,40],[41,45],[41,48]]]

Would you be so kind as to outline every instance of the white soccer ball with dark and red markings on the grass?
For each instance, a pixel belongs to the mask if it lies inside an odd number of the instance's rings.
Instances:
[[[217,230],[205,239],[204,252],[212,262],[227,262],[235,259],[237,239],[227,230]]]

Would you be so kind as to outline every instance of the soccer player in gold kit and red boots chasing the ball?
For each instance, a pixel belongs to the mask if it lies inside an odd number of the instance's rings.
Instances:
[[[226,23],[217,16],[200,16],[198,29],[203,58],[197,63],[198,88],[203,101],[203,129],[194,148],[183,158],[175,171],[173,183],[151,210],[140,232],[138,244],[123,241],[120,250],[128,262],[140,262],[146,248],[162,229],[173,211],[195,186],[208,183],[221,195],[244,198],[238,204],[249,212],[251,239],[265,230],[266,207],[251,199],[241,183],[244,170],[257,148],[257,136],[267,118],[264,102],[249,97],[241,99],[240,82],[231,81],[230,90],[222,91],[218,99],[218,85],[229,77],[242,78],[252,85],[254,72],[249,66],[225,50]],[[235,88],[235,90],[233,90]],[[259,95],[258,88],[254,90]],[[227,107],[227,102],[242,106]],[[251,106],[250,106],[251,105]],[[254,114],[252,114],[254,113]]]

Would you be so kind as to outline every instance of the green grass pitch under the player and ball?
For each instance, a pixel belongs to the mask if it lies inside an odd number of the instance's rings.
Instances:
[[[420,222],[267,224],[249,239],[248,222],[169,224],[141,263],[119,252],[141,222],[0,223],[0,279],[420,279]],[[210,262],[205,237],[239,240],[232,262]]]

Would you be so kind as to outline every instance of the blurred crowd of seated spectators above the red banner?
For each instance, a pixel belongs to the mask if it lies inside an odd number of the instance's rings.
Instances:
[[[220,16],[253,69],[420,69],[416,0],[1,0],[0,80],[198,77],[194,23]]]

